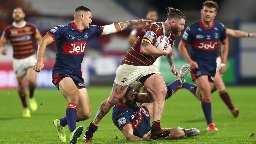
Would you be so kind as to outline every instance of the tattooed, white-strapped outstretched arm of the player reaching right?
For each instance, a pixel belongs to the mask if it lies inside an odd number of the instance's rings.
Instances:
[[[142,25],[142,24],[145,24],[146,22],[151,22],[151,21],[152,20],[139,19],[139,20],[132,20],[127,22],[113,23],[111,25],[105,25],[105,26],[102,26],[103,32],[101,35],[113,34],[113,33],[125,30],[128,27],[131,27],[134,25]]]

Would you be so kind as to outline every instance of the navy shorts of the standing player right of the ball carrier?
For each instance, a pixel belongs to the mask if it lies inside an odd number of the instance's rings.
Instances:
[[[209,82],[213,83],[216,74],[216,67],[214,68],[205,65],[198,65],[198,69],[191,69],[190,74],[193,81],[200,76],[207,75]]]

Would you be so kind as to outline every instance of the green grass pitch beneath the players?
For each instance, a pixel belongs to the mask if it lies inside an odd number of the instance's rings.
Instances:
[[[93,120],[100,103],[109,96],[111,87],[89,87],[92,117],[77,123],[86,128]],[[127,142],[112,122],[111,112],[101,121],[94,134],[93,143],[231,143],[256,144],[256,87],[227,87],[232,102],[240,110],[238,118],[233,118],[218,93],[212,94],[212,117],[217,132],[206,131],[206,121],[201,102],[185,89],[179,90],[166,100],[161,119],[162,128],[195,127],[201,131],[199,136],[179,140],[157,140],[151,142]],[[67,101],[56,89],[37,89],[35,91],[38,110],[31,112],[31,118],[22,118],[22,106],[16,90],[0,91],[0,143],[5,144],[61,144],[53,120],[65,115]],[[65,127],[69,143],[69,129]],[[117,135],[117,139],[116,139]],[[82,135],[83,137],[83,135]],[[78,144],[82,144],[82,138]]]

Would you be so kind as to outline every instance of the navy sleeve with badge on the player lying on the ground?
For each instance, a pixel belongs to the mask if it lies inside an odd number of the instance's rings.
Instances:
[[[129,124],[132,123],[131,122],[131,117],[129,116],[129,114],[125,111],[125,110],[118,110],[117,112],[115,112],[115,114],[113,115],[114,117],[114,123],[115,125],[118,127],[118,129],[122,130],[122,128]]]

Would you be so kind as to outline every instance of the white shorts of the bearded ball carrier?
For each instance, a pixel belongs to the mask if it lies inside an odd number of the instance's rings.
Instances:
[[[116,70],[115,83],[118,85],[129,85],[130,83],[134,83],[136,80],[143,76],[152,73],[161,74],[156,67],[154,66],[134,66],[134,65],[119,65]]]

